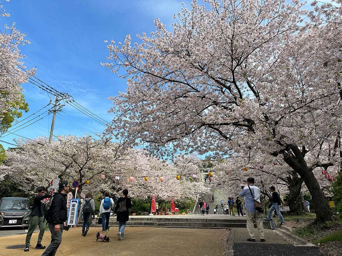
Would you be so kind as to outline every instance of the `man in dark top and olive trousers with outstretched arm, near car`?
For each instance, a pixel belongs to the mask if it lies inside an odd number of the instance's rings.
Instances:
[[[25,249],[24,252],[29,251],[30,240],[33,232],[35,231],[36,227],[39,227],[39,235],[38,241],[35,249],[45,249],[46,247],[41,244],[41,241],[44,236],[45,232],[45,223],[44,223],[44,210],[45,210],[45,202],[43,199],[52,197],[51,195],[45,195],[46,189],[45,187],[38,187],[37,188],[38,194],[34,198],[32,211],[30,214],[29,226],[28,231],[26,234],[26,241],[25,241]]]

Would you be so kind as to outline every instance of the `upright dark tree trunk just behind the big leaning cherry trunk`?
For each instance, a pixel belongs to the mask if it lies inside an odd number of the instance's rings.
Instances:
[[[289,178],[289,198],[287,202],[290,207],[290,214],[301,214],[303,213],[303,204],[301,202],[303,179],[298,177]]]

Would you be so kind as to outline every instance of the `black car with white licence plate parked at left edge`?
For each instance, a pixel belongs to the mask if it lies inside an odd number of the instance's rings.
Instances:
[[[28,228],[30,203],[27,198],[3,197],[0,199],[0,228]]]

